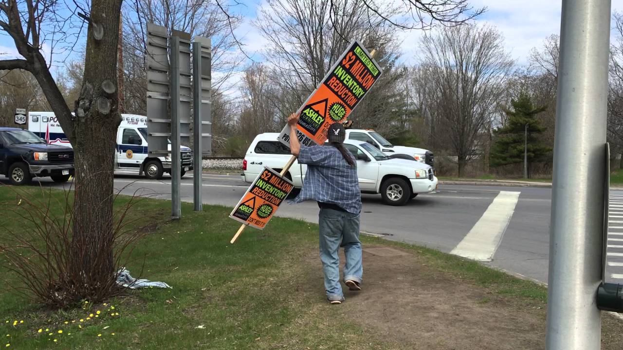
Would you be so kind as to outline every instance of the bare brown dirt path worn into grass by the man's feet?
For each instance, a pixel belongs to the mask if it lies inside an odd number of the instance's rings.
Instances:
[[[323,303],[307,316],[325,315],[328,326],[336,321],[330,315],[343,316],[363,327],[364,338],[377,341],[376,346],[354,343],[353,349],[545,349],[545,305],[495,295],[399,248],[366,246],[363,259],[363,290],[345,288],[345,303]],[[304,260],[298,284],[315,283],[314,291],[323,293],[317,253]],[[322,296],[312,294],[305,298]],[[603,319],[602,349],[622,349],[623,322],[609,315]]]

